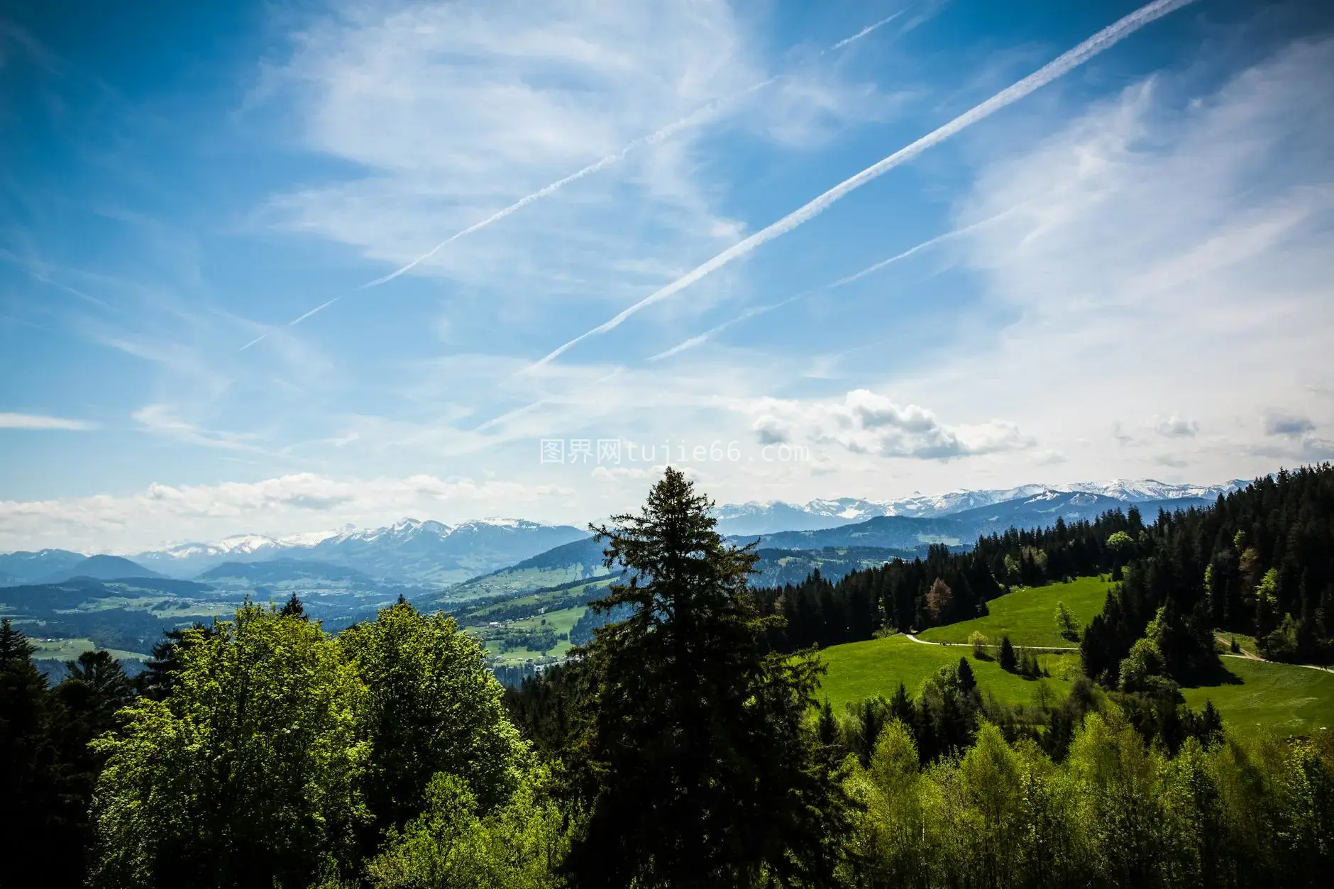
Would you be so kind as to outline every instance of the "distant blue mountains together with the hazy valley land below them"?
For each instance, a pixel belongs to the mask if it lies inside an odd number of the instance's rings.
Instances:
[[[1046,527],[1058,518],[1135,506],[1151,521],[1159,509],[1205,506],[1241,486],[1030,485],[883,502],[727,505],[718,515],[730,541],[758,543],[751,582],[779,586],[800,583],[814,570],[839,578],[892,558],[911,559],[932,543],[963,549],[983,534]],[[608,574],[602,550],[602,542],[571,526],[404,519],[363,531],[187,543],[132,559],[69,550],[9,553],[0,555],[0,613],[49,637],[147,653],[164,629],[227,615],[245,597],[265,605],[295,593],[309,614],[336,629],[399,595],[419,607],[454,610],[538,590],[600,586]]]

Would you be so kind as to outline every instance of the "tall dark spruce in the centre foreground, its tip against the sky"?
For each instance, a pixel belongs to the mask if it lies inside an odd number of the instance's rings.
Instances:
[[[630,614],[582,655],[578,886],[831,880],[843,797],[803,725],[822,667],[768,649],[780,618],[747,589],[756,555],[723,543],[711,506],[668,467],[639,515],[592,529],[628,574],[592,607]]]

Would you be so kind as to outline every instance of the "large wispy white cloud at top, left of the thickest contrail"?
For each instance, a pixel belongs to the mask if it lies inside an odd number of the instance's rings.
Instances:
[[[366,174],[280,194],[268,219],[390,263],[372,284],[607,299],[642,279],[608,268],[732,230],[694,172],[695,124],[767,81],[718,0],[346,4],[297,36],[275,95],[307,147]]]

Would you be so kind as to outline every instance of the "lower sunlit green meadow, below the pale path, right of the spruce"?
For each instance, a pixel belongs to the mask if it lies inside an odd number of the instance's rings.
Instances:
[[[995,661],[976,661],[966,649],[922,645],[902,635],[835,645],[820,651],[828,673],[816,697],[822,701],[828,698],[834,709],[840,710],[844,703],[876,694],[888,698],[899,687],[899,682],[907,687],[908,694],[915,695],[927,677],[942,666],[958,663],[959,657],[964,654],[983,694],[991,691],[996,698],[1010,703],[1033,702],[1039,681],[1006,673]],[[1078,657],[1046,654],[1042,655],[1042,661],[1051,678],[1042,679],[1041,685],[1047,686],[1053,698],[1063,697],[1070,689],[1070,682],[1062,677],[1071,667],[1078,667]]]

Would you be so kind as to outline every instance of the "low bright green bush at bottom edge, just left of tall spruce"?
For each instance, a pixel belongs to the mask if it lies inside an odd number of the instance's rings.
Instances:
[[[503,806],[484,812],[468,784],[438,774],[426,810],[367,865],[375,889],[547,889],[570,846],[570,828],[546,796],[544,776],[526,776]]]

